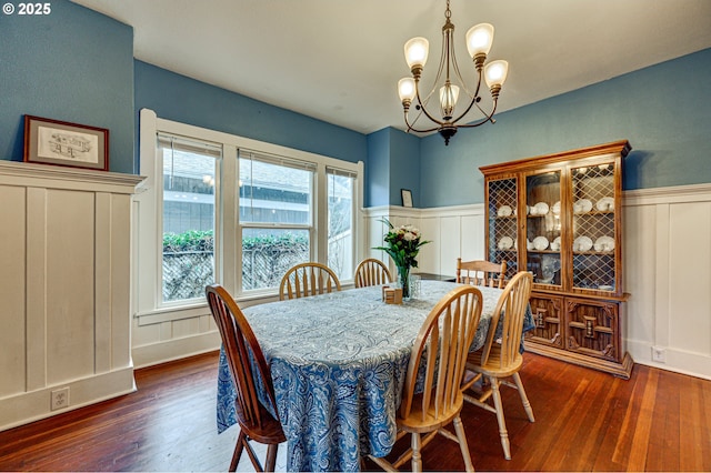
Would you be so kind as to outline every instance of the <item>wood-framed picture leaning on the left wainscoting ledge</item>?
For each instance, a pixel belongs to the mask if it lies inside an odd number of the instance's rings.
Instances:
[[[24,162],[109,170],[109,130],[24,115]]]

